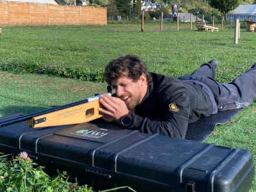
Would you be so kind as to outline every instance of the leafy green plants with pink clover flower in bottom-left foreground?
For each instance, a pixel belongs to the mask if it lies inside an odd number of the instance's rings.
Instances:
[[[26,152],[21,152],[12,160],[7,157],[0,156],[0,191],[92,191],[87,186],[68,182],[67,172],[59,173],[56,178],[49,177]]]

